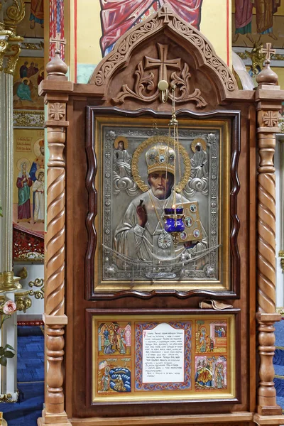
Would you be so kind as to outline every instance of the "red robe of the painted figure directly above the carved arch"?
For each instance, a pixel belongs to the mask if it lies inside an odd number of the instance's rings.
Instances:
[[[100,0],[102,55],[109,53],[117,40],[137,23],[168,3],[180,18],[200,29],[203,0]]]

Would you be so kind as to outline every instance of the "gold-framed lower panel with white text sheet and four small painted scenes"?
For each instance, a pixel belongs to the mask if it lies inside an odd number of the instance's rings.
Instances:
[[[236,398],[235,350],[228,313],[92,315],[92,403]]]

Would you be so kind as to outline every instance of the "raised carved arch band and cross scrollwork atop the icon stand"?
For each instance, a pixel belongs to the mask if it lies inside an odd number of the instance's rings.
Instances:
[[[214,84],[217,84],[219,91],[221,92],[221,97],[224,99],[226,94],[229,92],[234,92],[238,89],[236,80],[234,75],[231,73],[228,67],[217,58],[216,53],[214,52],[214,48],[210,45],[209,41],[204,38],[204,36],[197,31],[194,27],[190,26],[189,23],[185,22],[176,15],[170,6],[166,4],[163,6],[157,13],[153,14],[147,21],[137,25],[135,29],[128,31],[121,39],[116,43],[114,50],[107,55],[102,62],[100,62],[99,66],[94,71],[90,83],[95,84],[98,87],[97,92],[104,94],[105,89],[109,85],[109,81],[113,77],[116,70],[120,67],[123,67],[127,64],[129,59],[131,58],[131,53],[136,48],[138,44],[142,41],[151,38],[153,35],[157,34],[161,29],[167,29],[170,31],[173,37],[182,38],[187,43],[187,48],[192,49],[194,52],[196,62],[200,67],[204,65],[207,68],[207,72],[212,74],[212,80]],[[165,50],[164,50],[165,52]],[[163,61],[164,59],[164,61]],[[160,67],[165,67],[165,56],[160,57],[161,63]],[[155,62],[157,60],[155,59]],[[175,65],[178,67],[178,60],[171,63],[171,66]],[[146,58],[145,70],[148,69],[151,64],[151,58]],[[163,65],[162,65],[163,64]],[[165,68],[164,68],[165,70]],[[136,70],[136,84],[133,89],[133,92],[127,87],[125,84],[122,88],[121,93],[116,95],[114,98],[115,102],[123,102],[123,99],[126,96],[139,97],[138,99],[143,99],[141,97],[141,89],[147,87],[147,84],[151,86],[151,73],[146,75],[143,78],[143,67],[142,64],[138,65],[138,69]],[[180,82],[181,87],[184,84],[184,81],[187,80],[187,70],[183,70],[182,82]],[[160,72],[161,76],[165,76],[165,72]],[[174,80],[175,72],[171,78]],[[178,77],[178,81],[180,76]],[[185,80],[184,80],[185,79]],[[100,88],[100,89],[99,89]],[[187,90],[188,92],[188,90]],[[195,92],[194,92],[195,93]],[[187,93],[187,100],[197,97],[197,104],[199,107],[202,107],[202,98],[200,99],[200,94],[191,94]],[[192,98],[191,98],[192,97]],[[144,101],[146,99],[143,99]],[[153,99],[152,99],[153,100]],[[151,99],[149,100],[149,102]],[[185,95],[180,98],[180,102],[185,102]]]

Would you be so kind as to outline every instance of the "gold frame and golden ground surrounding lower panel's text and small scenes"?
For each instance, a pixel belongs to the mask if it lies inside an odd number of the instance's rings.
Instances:
[[[87,312],[87,323],[89,324],[88,329],[88,341],[92,342],[87,353],[87,366],[88,371],[92,371],[92,374],[88,374],[87,377],[87,405],[95,405],[96,403],[137,403],[146,402],[147,400],[168,400],[175,402],[196,402],[196,401],[210,401],[212,400],[227,400],[237,403],[239,400],[239,386],[236,383],[236,377],[239,371],[239,359],[236,358],[236,348],[238,347],[238,330],[239,330],[239,310],[234,312],[204,312],[204,310],[192,310],[188,314],[180,314],[176,312],[161,312],[155,310],[151,314],[146,315],[145,312],[137,310],[137,312],[126,313],[120,312],[119,315],[111,315],[106,312],[102,315],[102,311],[99,310],[88,310]],[[168,386],[148,386],[148,388],[138,389],[139,375],[141,374],[141,362],[143,360],[143,354],[139,356],[139,350],[141,344],[138,340],[141,339],[141,332],[139,329],[155,329],[159,324],[171,324],[174,329],[180,327],[179,323],[187,323],[190,326],[190,341],[185,339],[185,355],[189,356],[190,362],[185,363],[185,380],[182,383],[182,389],[178,389],[177,386],[171,388]],[[197,333],[200,330],[199,323],[202,323],[203,328],[206,328],[207,334],[211,336],[210,325],[212,324],[226,324],[226,344],[221,342],[222,346],[219,346],[217,339],[214,339],[214,349],[209,351],[200,351],[197,346]],[[103,333],[100,332],[102,325],[118,324],[120,329],[124,328],[128,324],[131,329],[129,344],[127,346],[126,354],[119,354],[119,350],[114,351],[112,355],[104,354],[104,337]],[[141,328],[142,325],[142,328]],[[139,326],[139,327],[137,327]],[[214,328],[214,327],[213,327]],[[214,333],[214,331],[213,331]],[[185,332],[186,335],[186,332]],[[219,340],[224,341],[221,338]],[[141,342],[140,342],[141,343]],[[111,345],[112,347],[112,345]],[[113,346],[114,347],[114,346]],[[140,348],[140,349],[139,349]],[[100,350],[99,350],[100,349]],[[115,348],[114,348],[115,349]],[[113,349],[113,350],[114,350]],[[187,353],[188,352],[188,353]],[[224,357],[226,359],[226,386],[224,388],[198,388],[195,383],[195,373],[197,359],[202,357],[210,359],[212,356],[217,361],[218,357]],[[131,371],[131,389],[124,392],[101,391],[102,372],[100,371],[99,364],[109,365],[118,363],[124,363],[129,371]],[[127,365],[126,365],[127,364]],[[122,364],[121,364],[122,365]],[[103,366],[104,367],[104,366]],[[189,368],[188,384],[186,383],[186,368]],[[142,377],[140,378],[140,381]],[[166,381],[165,381],[166,382]],[[141,383],[140,383],[141,384]],[[187,384],[187,386],[185,386]]]

